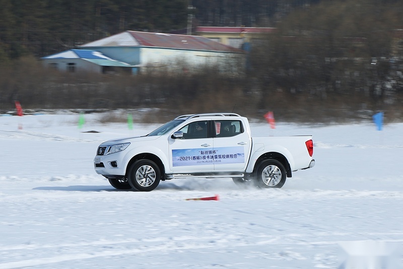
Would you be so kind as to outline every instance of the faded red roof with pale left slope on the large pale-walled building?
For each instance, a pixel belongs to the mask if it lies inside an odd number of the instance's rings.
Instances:
[[[209,50],[242,53],[243,50],[224,45],[207,37],[165,33],[124,31],[80,47],[158,47],[186,50]]]

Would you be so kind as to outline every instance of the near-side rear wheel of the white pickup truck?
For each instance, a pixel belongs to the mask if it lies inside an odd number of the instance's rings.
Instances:
[[[281,188],[286,179],[286,169],[278,160],[263,160],[256,169],[255,181],[260,188]]]

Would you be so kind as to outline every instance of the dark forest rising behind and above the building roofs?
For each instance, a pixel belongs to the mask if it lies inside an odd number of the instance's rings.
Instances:
[[[0,0],[0,62],[43,57],[125,30],[268,27],[319,0]],[[188,7],[194,9],[188,9]]]

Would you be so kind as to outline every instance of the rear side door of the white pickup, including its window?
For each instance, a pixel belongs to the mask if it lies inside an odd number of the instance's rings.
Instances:
[[[240,120],[213,121],[214,170],[243,171],[248,163],[251,141]]]

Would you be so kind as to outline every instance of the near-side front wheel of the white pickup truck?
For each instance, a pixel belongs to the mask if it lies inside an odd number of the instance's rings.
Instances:
[[[127,174],[130,186],[138,191],[152,191],[161,180],[160,168],[148,159],[141,159],[131,165]]]

